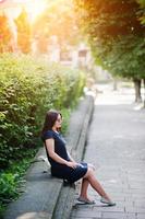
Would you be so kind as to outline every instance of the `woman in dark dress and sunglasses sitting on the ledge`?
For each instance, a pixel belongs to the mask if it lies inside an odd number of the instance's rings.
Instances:
[[[82,178],[81,194],[77,198],[83,204],[95,204],[87,196],[87,188],[92,187],[101,196],[100,201],[108,206],[116,204],[106,194],[99,182],[95,177],[94,169],[87,163],[75,162],[65,148],[65,141],[60,135],[62,115],[56,111],[46,114],[41,138],[45,143],[48,160],[51,165],[51,175],[74,183]]]

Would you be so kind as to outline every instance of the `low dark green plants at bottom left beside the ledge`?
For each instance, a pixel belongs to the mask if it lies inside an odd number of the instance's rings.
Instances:
[[[0,173],[0,217],[5,210],[7,205],[13,199],[17,198],[25,189],[24,174],[31,164],[32,157],[35,154],[29,153],[29,157],[22,159],[20,162],[13,162],[10,169]]]

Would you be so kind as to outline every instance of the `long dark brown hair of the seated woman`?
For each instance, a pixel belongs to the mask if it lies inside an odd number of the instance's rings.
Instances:
[[[58,115],[60,115],[62,118],[61,113],[59,113],[58,111],[48,111],[47,112],[44,127],[41,130],[41,135],[44,135],[47,130],[52,130],[52,127],[58,118]]]

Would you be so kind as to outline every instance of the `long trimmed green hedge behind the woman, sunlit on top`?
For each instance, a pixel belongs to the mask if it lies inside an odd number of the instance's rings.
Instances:
[[[78,100],[85,77],[57,64],[4,54],[0,78],[0,166],[5,169],[35,147],[48,110],[62,111]]]

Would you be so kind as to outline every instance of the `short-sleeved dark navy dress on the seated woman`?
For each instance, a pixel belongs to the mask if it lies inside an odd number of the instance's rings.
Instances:
[[[72,169],[65,164],[61,164],[52,160],[49,157],[46,147],[46,140],[50,138],[55,140],[55,152],[67,161],[70,161],[70,158],[65,149],[65,140],[62,138],[62,136],[53,130],[46,131],[43,136],[43,141],[45,142],[47,157],[51,165],[51,175],[67,180],[69,183],[74,183],[75,181],[82,178],[87,172],[87,163],[81,162],[82,165],[77,165],[76,169]]]

